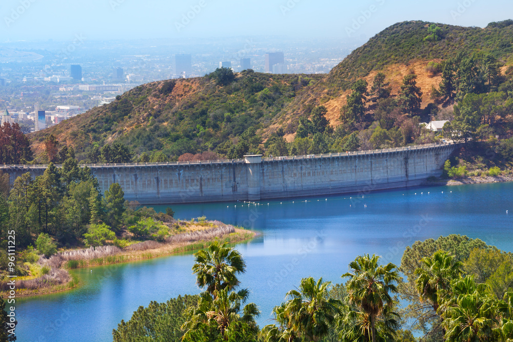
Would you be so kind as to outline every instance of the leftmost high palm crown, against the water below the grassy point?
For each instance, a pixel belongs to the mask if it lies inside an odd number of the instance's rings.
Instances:
[[[194,254],[192,272],[196,274],[196,284],[201,288],[207,287],[210,294],[225,288],[232,290],[240,284],[236,275],[246,271],[241,253],[227,246],[227,243],[219,245],[214,242],[208,249]]]

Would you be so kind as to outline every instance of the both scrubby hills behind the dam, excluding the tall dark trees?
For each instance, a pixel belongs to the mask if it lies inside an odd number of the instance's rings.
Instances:
[[[61,143],[73,146],[81,159],[86,159],[86,152],[94,143],[102,147],[112,142],[127,145],[136,155],[158,150],[176,159],[184,153],[202,151],[228,155],[241,136],[248,140],[260,134],[263,139],[257,137],[244,148],[263,152],[268,146],[260,143],[276,133],[292,142],[299,118],[309,116],[315,106],[325,106],[330,124],[339,126],[341,108],[346,104],[351,85],[365,79],[370,88],[378,72],[385,74],[392,97],[399,94],[403,77],[417,74],[417,86],[423,93],[421,109],[432,104],[431,89],[438,87],[442,79],[441,70],[427,70],[429,62],[443,63],[460,54],[472,55],[480,63],[489,54],[497,58],[504,72],[506,66],[513,64],[511,24],[512,21],[505,21],[476,28],[421,21],[398,23],[369,39],[327,75],[244,71],[227,83],[216,81],[214,73],[154,82],[123,94],[114,103],[33,133],[30,139],[36,154],[43,151],[45,137],[53,134]],[[430,25],[437,26],[435,38],[429,37]],[[370,125],[372,112],[367,115],[367,125],[360,129]],[[418,115],[427,118],[426,113]],[[398,128],[404,131],[404,118],[397,122]],[[337,136],[330,137],[329,150],[340,150],[352,130],[345,125]],[[408,134],[388,145],[408,144],[418,136]],[[286,152],[279,149],[280,154]]]

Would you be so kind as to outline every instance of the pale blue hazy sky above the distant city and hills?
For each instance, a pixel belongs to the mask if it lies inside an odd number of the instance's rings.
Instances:
[[[223,37],[370,37],[402,21],[484,27],[511,0],[3,0],[0,42]]]

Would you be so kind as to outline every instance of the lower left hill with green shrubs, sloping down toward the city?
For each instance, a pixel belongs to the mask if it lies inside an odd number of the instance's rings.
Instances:
[[[94,143],[101,147],[114,141],[136,154],[213,150],[250,127],[269,126],[292,98],[321,77],[243,72],[226,86],[208,77],[149,83],[111,104],[32,133],[32,147],[41,153],[45,137],[53,134],[79,156]]]

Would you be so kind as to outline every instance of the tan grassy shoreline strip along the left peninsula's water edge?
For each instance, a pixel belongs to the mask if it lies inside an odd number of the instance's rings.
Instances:
[[[148,249],[143,251],[122,251],[119,254],[114,255],[113,257],[101,257],[96,259],[81,259],[77,260],[77,265],[75,267],[68,267],[68,263],[63,264],[61,269],[65,269],[68,271],[71,280],[66,284],[54,285],[48,288],[42,288],[37,290],[28,290],[28,289],[16,289],[16,298],[21,297],[35,297],[39,295],[52,294],[58,292],[65,292],[68,290],[72,290],[78,286],[80,286],[81,281],[77,275],[72,273],[73,269],[78,268],[86,268],[86,267],[96,267],[96,266],[106,266],[113,264],[122,264],[122,263],[131,263],[132,261],[140,261],[153,259],[157,257],[163,256],[171,256],[174,254],[190,252],[202,248],[208,247],[215,240],[219,240],[222,243],[227,242],[228,244],[238,244],[245,241],[252,240],[253,238],[260,236],[261,233],[255,232],[252,230],[244,230],[240,228],[235,228],[235,232],[230,234],[225,234],[221,236],[216,236],[212,239],[208,240],[199,240],[195,242],[187,242],[187,243],[170,243],[164,244],[160,248]],[[4,298],[8,296],[8,291],[0,292]]]

